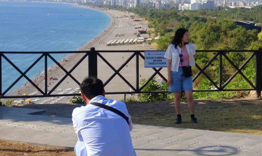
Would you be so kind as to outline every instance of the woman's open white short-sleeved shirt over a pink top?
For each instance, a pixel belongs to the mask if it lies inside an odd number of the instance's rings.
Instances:
[[[195,66],[195,59],[194,55],[196,54],[196,46],[192,43],[188,43],[185,45],[187,48],[187,52],[189,55],[189,66]],[[178,52],[179,50],[179,52]],[[178,72],[180,57],[179,54],[181,54],[181,49],[179,46],[175,48],[174,44],[170,44],[167,48],[167,51],[165,53],[166,59],[171,59],[171,71]]]

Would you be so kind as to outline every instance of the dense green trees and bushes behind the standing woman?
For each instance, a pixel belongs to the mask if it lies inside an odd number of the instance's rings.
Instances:
[[[262,47],[262,32],[258,33],[257,30],[246,30],[234,22],[234,20],[239,18],[239,20],[250,20],[262,23],[262,6],[257,6],[252,9],[218,7],[213,10],[200,9],[195,11],[186,10],[183,12],[174,8],[169,10],[152,8],[124,9],[121,7],[118,8],[118,6],[111,6],[111,9],[133,12],[148,20],[148,27],[151,28],[149,33],[154,37],[160,36],[160,38],[156,40],[157,50],[167,49],[178,28],[186,28],[189,30],[189,41],[196,45],[197,50],[256,50],[258,47]],[[226,55],[233,61],[233,64],[240,67],[251,54],[252,52],[229,52]],[[214,55],[215,53],[213,52],[198,52],[195,61],[200,67],[203,67]],[[223,85],[236,70],[224,57],[222,57],[222,60]],[[255,79],[254,66],[255,58],[242,70],[243,74],[253,84]],[[196,67],[193,67],[192,70],[194,75],[199,72]],[[206,68],[205,72],[215,84],[218,85],[219,59],[215,59],[210,66]],[[194,81],[193,85],[194,89],[198,90],[215,89],[215,86],[203,74]],[[233,88],[251,88],[251,86],[238,74],[227,84],[225,89]],[[231,99],[245,97],[248,94],[249,91],[195,92],[194,97]],[[150,94],[148,94],[148,96],[149,95]],[[146,96],[146,94],[143,95],[142,99],[147,99],[148,97]],[[153,96],[150,95],[150,97]]]

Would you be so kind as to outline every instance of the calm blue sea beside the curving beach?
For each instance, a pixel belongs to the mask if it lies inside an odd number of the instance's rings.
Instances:
[[[75,51],[104,31],[111,18],[104,12],[73,4],[29,1],[0,1],[0,51],[42,52]],[[52,54],[56,61],[68,54]],[[5,54],[22,72],[40,54]],[[48,59],[48,66],[54,62]],[[2,57],[2,92],[20,77],[20,73]],[[41,59],[29,72],[30,79],[44,71]],[[20,79],[5,95],[25,84]]]

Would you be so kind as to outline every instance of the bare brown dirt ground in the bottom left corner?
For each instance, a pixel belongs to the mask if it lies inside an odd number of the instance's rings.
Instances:
[[[33,146],[24,143],[8,142],[0,140],[0,156],[69,156],[75,155],[73,150],[53,147]]]

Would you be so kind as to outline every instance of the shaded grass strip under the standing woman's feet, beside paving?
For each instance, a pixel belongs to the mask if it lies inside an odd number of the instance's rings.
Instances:
[[[174,124],[176,112],[173,101],[132,103],[127,107],[135,124],[262,135],[262,102],[259,99],[196,100],[198,124],[191,123],[185,101],[181,106],[183,123],[178,125]]]

